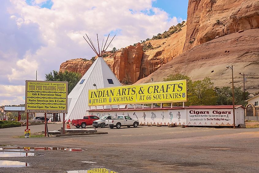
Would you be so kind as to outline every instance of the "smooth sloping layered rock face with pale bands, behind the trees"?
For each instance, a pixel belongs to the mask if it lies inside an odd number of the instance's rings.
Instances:
[[[170,74],[183,74],[192,80],[210,77],[214,86],[232,87],[231,69],[233,65],[234,85],[243,86],[243,77],[247,74],[246,89],[250,93],[259,88],[259,29],[249,29],[242,33],[231,33],[208,41],[182,53],[169,61],[146,78],[136,82],[148,83],[163,81]]]

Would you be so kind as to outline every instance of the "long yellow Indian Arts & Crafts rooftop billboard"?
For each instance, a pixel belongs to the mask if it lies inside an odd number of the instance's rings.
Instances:
[[[186,102],[186,80],[90,89],[89,106]]]

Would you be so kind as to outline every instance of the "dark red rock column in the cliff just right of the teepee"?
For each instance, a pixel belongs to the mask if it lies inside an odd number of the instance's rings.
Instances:
[[[143,50],[140,43],[117,51],[113,57],[112,71],[124,83],[138,81]]]

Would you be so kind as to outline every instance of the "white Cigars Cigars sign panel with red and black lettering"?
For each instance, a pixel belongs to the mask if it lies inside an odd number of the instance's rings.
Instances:
[[[233,110],[193,109],[187,111],[187,125],[232,125]]]

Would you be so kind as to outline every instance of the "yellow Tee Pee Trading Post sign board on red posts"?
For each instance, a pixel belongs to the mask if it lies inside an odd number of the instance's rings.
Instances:
[[[67,113],[67,84],[59,81],[26,81],[25,112]]]

